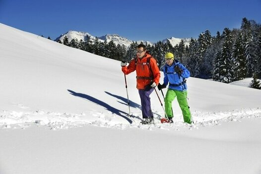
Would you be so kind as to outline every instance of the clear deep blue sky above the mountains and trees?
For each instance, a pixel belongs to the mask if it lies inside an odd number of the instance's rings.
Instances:
[[[0,23],[53,40],[75,30],[157,42],[261,23],[260,11],[261,0],[0,0]]]

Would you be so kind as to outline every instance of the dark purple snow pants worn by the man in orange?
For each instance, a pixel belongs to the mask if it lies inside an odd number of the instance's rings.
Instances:
[[[141,101],[141,112],[142,118],[151,118],[153,113],[151,111],[150,97],[149,95],[153,92],[154,88],[145,91],[143,89],[138,89],[140,101]]]

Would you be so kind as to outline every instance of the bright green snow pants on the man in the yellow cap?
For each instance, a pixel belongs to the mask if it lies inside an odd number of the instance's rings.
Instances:
[[[173,89],[168,89],[165,97],[165,111],[168,116],[168,118],[173,117],[173,112],[172,112],[172,101],[175,99],[177,96],[180,108],[182,110],[183,114],[183,119],[184,122],[186,123],[191,123],[191,112],[189,108],[189,104],[187,101],[187,91],[179,91],[179,90],[173,90]]]

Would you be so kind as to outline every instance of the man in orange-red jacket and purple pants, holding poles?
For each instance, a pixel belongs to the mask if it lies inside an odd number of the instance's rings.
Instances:
[[[156,60],[148,53],[146,46],[137,46],[137,57],[132,59],[129,66],[125,61],[121,62],[122,71],[128,75],[136,70],[137,89],[141,100],[142,118],[141,124],[154,124],[149,95],[159,84],[160,72]]]

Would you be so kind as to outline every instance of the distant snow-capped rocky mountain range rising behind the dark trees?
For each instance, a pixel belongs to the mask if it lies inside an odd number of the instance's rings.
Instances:
[[[68,41],[70,41],[71,39],[75,39],[75,40],[77,39],[78,41],[80,41],[80,40],[87,41],[88,39],[90,39],[91,41],[94,41],[96,39],[95,36],[92,36],[87,32],[68,31],[65,34],[62,34],[61,36],[56,38],[55,41],[57,41],[57,40],[63,41],[65,36],[67,36]],[[97,37],[97,38],[101,42],[104,42],[104,41],[110,42],[112,40],[116,45],[118,45],[118,44],[125,45],[127,48],[130,47],[132,42],[137,42],[138,44],[141,43],[141,42],[143,42],[144,44],[150,44],[150,45],[155,44],[155,43],[152,43],[152,42],[149,42],[149,41],[143,41],[143,40],[132,41],[132,40],[129,40],[125,37],[121,37],[118,34],[106,34],[104,36]],[[171,37],[171,38],[167,38],[167,39],[162,40],[162,42],[166,43],[168,40],[170,41],[172,46],[176,46],[177,44],[179,44],[181,42],[182,39]],[[185,45],[189,45],[190,39],[185,38],[183,40],[185,42]]]

